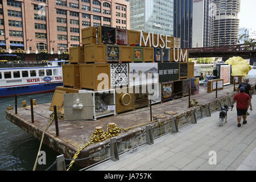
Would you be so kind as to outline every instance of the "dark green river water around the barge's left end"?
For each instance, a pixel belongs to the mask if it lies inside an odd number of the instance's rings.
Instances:
[[[36,104],[51,102],[52,93],[32,94],[18,97],[18,106],[26,100],[30,105],[30,98],[36,99]],[[15,98],[0,98],[0,170],[28,170],[34,167],[40,141],[26,133],[18,126],[6,119],[5,110],[11,105],[15,107]],[[57,152],[42,145],[42,151],[46,152],[46,164],[37,165],[36,170],[46,170],[56,160]],[[50,169],[56,170],[56,164]]]

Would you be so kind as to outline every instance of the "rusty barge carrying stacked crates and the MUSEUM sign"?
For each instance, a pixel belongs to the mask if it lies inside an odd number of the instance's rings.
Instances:
[[[31,104],[31,109],[28,106],[6,111],[6,118],[41,139],[47,116],[56,108],[58,114],[64,114],[64,120],[57,122],[58,127],[49,127],[44,143],[68,159],[90,141],[96,127],[106,131],[113,122],[125,129],[116,136],[118,152],[145,143],[146,125],[156,129],[152,137],[170,130],[177,132],[187,123],[195,123],[196,118],[210,116],[210,110],[228,104],[234,96],[232,86],[227,88],[228,96],[227,90],[220,91],[218,98],[210,98],[214,93],[199,93],[199,78],[193,77],[194,64],[188,62],[188,52],[179,47],[180,39],[171,36],[110,27],[84,28],[82,47],[70,48],[71,64],[63,65],[63,86],[56,87],[51,104],[34,106],[35,117]],[[147,73],[151,76],[147,77]],[[218,89],[223,89],[224,80],[217,82]],[[214,90],[213,86],[210,89]],[[196,97],[201,105],[189,108],[184,96]],[[154,120],[148,109],[150,102],[155,104]],[[87,159],[76,163],[87,167],[108,159],[109,142],[105,139],[90,144],[78,156]]]

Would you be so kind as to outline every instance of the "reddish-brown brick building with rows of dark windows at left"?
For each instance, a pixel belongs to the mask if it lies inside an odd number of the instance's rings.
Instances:
[[[0,45],[57,54],[81,45],[82,28],[129,29],[129,10],[124,0],[0,0]]]

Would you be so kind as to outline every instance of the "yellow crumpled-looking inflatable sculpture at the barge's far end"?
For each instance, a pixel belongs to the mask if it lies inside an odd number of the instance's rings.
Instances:
[[[251,71],[251,66],[242,57],[230,57],[226,60],[225,64],[232,66],[232,76],[243,75],[246,78],[249,71]]]

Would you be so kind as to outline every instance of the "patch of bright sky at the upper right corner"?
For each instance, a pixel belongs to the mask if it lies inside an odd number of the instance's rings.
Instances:
[[[241,0],[241,10],[238,14],[240,19],[240,27],[251,28],[256,32],[256,0]]]

